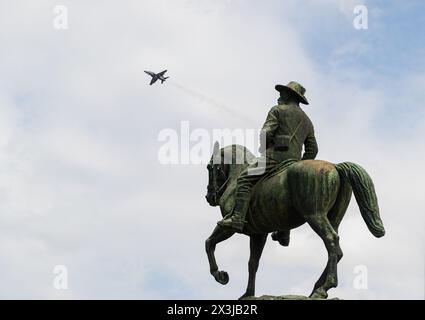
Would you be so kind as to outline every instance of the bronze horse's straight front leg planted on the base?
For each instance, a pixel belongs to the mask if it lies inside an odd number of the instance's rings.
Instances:
[[[258,265],[264,245],[266,244],[267,234],[253,235],[250,237],[250,256],[248,262],[248,286],[245,293],[239,299],[255,296],[255,276],[257,274]]]

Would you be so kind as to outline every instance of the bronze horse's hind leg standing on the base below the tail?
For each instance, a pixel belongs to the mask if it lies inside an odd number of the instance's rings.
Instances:
[[[337,263],[338,255],[342,253],[339,247],[339,237],[325,214],[307,216],[306,220],[311,228],[322,238],[328,251],[328,262],[321,276],[323,280],[319,279],[317,281],[318,283],[323,282],[323,284],[318,286],[310,295],[312,298],[325,299],[328,296],[327,291],[338,285]]]

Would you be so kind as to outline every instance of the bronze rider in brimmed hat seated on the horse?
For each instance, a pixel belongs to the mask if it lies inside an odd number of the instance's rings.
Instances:
[[[234,210],[230,216],[218,222],[220,226],[242,231],[246,223],[251,190],[261,177],[285,160],[314,159],[317,155],[313,124],[299,106],[299,103],[308,104],[304,96],[305,88],[291,81],[286,86],[276,85],[275,89],[279,91],[280,97],[278,105],[269,111],[261,130],[261,156],[240,174]],[[301,157],[303,145],[304,155]],[[283,241],[281,244],[288,245],[289,230],[282,230],[280,233],[279,239]],[[276,233],[274,239],[275,237]]]

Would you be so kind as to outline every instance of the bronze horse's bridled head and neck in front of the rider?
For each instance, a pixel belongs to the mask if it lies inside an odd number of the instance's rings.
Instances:
[[[229,145],[220,149],[219,143],[214,143],[213,154],[207,165],[208,186],[205,196],[211,206],[218,205],[229,180],[232,177],[237,178],[243,167],[253,158],[254,155],[243,146]]]

